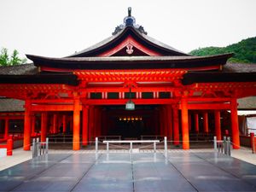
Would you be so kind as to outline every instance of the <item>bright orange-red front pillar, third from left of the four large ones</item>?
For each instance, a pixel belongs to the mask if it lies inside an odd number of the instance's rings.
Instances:
[[[189,149],[189,111],[188,99],[183,97],[181,99],[182,110],[182,132],[183,132],[183,149]]]

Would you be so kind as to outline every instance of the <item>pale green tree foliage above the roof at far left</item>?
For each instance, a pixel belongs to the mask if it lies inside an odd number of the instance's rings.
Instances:
[[[8,49],[1,49],[0,66],[14,66],[26,63],[26,58],[20,58],[19,52],[15,49],[12,55],[8,54]]]

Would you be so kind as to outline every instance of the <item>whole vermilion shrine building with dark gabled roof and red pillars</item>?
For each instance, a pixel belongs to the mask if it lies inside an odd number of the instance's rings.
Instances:
[[[0,113],[3,137],[11,134],[9,119],[20,119],[24,150],[32,137],[44,142],[60,132],[73,135],[73,150],[110,135],[166,136],[189,149],[192,134],[221,140],[229,111],[233,148],[240,148],[237,100],[256,95],[256,70],[227,63],[232,55],[193,56],[162,44],[129,9],[110,38],[88,49],[0,67],[2,99],[24,101],[24,111]]]

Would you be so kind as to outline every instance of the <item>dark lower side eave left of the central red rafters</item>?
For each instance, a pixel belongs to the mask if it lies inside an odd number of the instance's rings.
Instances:
[[[70,73],[38,73],[33,75],[0,75],[0,84],[68,84],[78,85],[77,76]]]

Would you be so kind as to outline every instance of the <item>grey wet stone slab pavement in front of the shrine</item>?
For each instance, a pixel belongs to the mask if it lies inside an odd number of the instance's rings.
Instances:
[[[0,191],[256,191],[256,166],[215,153],[48,154],[0,172]]]

